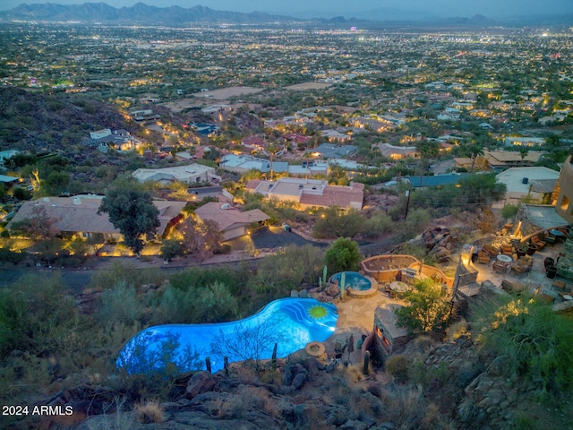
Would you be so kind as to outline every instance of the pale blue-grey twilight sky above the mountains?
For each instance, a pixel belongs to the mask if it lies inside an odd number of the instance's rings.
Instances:
[[[132,6],[137,0],[90,0],[89,3],[105,1],[115,7]],[[0,0],[0,10],[8,10],[18,4],[55,3],[82,4],[84,0]],[[502,18],[525,14],[573,13],[572,0],[143,0],[142,3],[166,7],[177,4],[192,7],[197,4],[219,11],[267,12],[290,16],[346,18],[356,13],[374,9],[427,12],[439,17],[466,16],[481,13],[488,18]]]

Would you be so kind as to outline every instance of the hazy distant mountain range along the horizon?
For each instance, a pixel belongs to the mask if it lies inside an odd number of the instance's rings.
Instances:
[[[424,26],[440,27],[492,27],[503,24],[509,25],[570,25],[573,15],[544,15],[535,17],[516,17],[507,20],[493,21],[483,15],[472,18],[453,17],[441,19],[427,13],[413,13],[397,9],[375,9],[369,12],[355,13],[354,18],[342,16],[334,18],[312,17],[314,13],[302,13],[309,23],[319,23],[331,26],[353,26],[374,28],[384,26],[407,25],[408,23],[423,23]],[[102,23],[141,23],[183,25],[192,22],[206,23],[303,23],[300,17],[274,15],[269,13],[239,13],[215,11],[205,6],[183,8],[180,6],[156,7],[138,3],[131,7],[115,8],[106,3],[84,4],[21,4],[9,11],[0,12],[0,21],[23,22],[102,22]],[[390,25],[389,25],[390,24]]]

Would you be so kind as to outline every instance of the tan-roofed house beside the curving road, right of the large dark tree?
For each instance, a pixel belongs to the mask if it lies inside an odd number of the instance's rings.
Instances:
[[[202,221],[214,221],[223,235],[223,240],[247,234],[249,226],[270,219],[269,215],[259,209],[241,212],[229,203],[209,202],[195,210]]]

